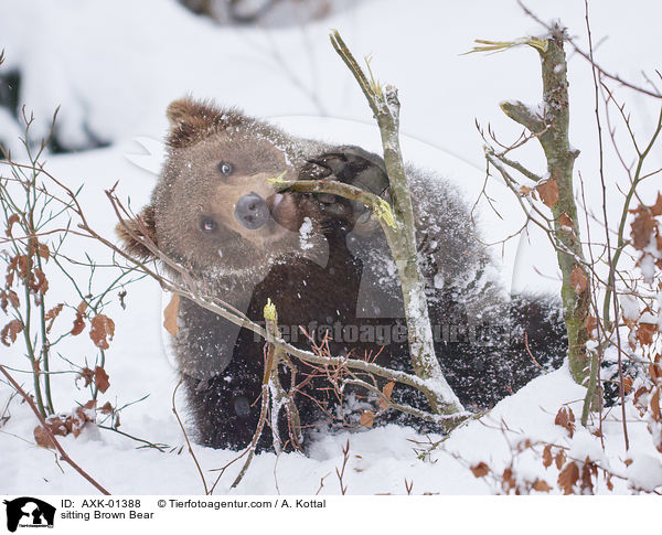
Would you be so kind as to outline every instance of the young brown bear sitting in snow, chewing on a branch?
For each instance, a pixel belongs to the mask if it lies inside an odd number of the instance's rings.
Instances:
[[[410,370],[397,270],[377,222],[357,203],[278,192],[273,181],[338,180],[388,200],[383,160],[357,147],[296,138],[211,103],[177,100],[167,115],[168,158],[141,223],[129,222],[134,232],[147,228],[194,280],[254,321],[270,299],[295,345],[310,349],[302,328],[318,342],[327,334],[333,355]],[[466,407],[489,407],[540,373],[532,353],[545,367],[562,363],[558,307],[506,296],[459,193],[431,173],[407,171],[437,356]],[[124,227],[118,233],[128,252],[150,256]],[[185,299],[178,322],[173,345],[197,440],[248,445],[260,411],[264,341]],[[346,424],[351,408],[365,406],[365,393],[356,392],[339,408],[337,393],[298,366],[305,429]],[[394,396],[425,406],[401,386]],[[267,431],[260,445],[270,440]]]

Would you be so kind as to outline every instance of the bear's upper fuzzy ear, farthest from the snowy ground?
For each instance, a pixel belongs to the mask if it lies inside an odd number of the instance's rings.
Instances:
[[[190,97],[171,103],[166,116],[170,121],[168,145],[172,148],[189,147],[243,120],[236,109],[222,109],[212,101]]]

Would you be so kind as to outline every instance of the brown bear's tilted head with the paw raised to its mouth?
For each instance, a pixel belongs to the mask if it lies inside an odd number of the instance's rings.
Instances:
[[[323,264],[331,236],[378,227],[357,203],[278,190],[281,180],[340,180],[384,194],[375,154],[295,138],[190,98],[173,101],[167,116],[168,158],[151,203],[117,226],[129,253],[154,256],[148,238],[194,274],[255,281],[292,256]]]

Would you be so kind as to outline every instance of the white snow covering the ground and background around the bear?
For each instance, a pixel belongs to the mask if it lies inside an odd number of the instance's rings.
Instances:
[[[560,19],[579,43],[586,43],[584,2],[532,0],[527,4],[544,20]],[[627,8],[617,0],[594,1],[598,61],[644,85],[640,71],[651,73],[660,67],[661,14],[660,6],[643,0],[632,0]],[[331,28],[340,30],[357,56],[372,54],[377,77],[399,88],[405,158],[438,170],[457,183],[467,199],[478,199],[484,162],[474,118],[515,139],[519,129],[502,116],[498,103],[540,100],[540,65],[534,51],[522,47],[487,56],[460,55],[471,49],[474,39],[508,40],[541,33],[513,0],[374,0],[305,28],[278,30],[217,26],[174,0],[4,0],[0,50],[4,49],[6,63],[0,69],[21,69],[21,101],[36,118],[33,135],[47,130],[53,111],[61,105],[58,137],[68,147],[84,146],[90,136],[109,143],[88,151],[50,154],[47,169],[71,186],[85,184],[82,204],[97,228],[111,235],[115,217],[104,190],[119,180],[117,191],[122,197],[130,196],[132,207],[148,201],[162,156],[160,140],[167,128],[163,111],[168,103],[185,94],[239,106],[293,133],[378,150],[378,132],[363,95],[329,43]],[[597,210],[601,199],[596,175],[592,83],[590,68],[576,54],[569,54],[569,79],[570,137],[581,150],[577,169],[586,181],[587,203]],[[624,95],[631,103],[636,128],[649,131],[656,115],[652,103],[634,94]],[[14,128],[9,124],[4,127],[6,121],[0,116],[2,133]],[[652,154],[658,167],[662,167],[659,152]],[[532,149],[528,158],[532,167],[543,169],[541,153]],[[647,188],[643,195],[659,189],[655,184]],[[483,235],[493,242],[519,228],[521,220],[516,201],[505,188],[494,182],[490,194],[500,211],[509,214],[504,221],[487,203],[479,204]],[[616,213],[620,203],[616,189],[612,195],[608,210]],[[103,256],[96,244],[73,240],[70,247],[94,258]],[[530,239],[511,240],[503,249],[494,247],[493,254],[503,259],[504,283],[516,289],[558,290],[555,255],[535,231]],[[52,281],[51,286],[56,296],[58,285]],[[52,302],[56,302],[55,297]],[[186,448],[181,448],[184,438],[171,410],[177,377],[164,349],[160,288],[149,280],[132,283],[126,303],[126,310],[115,303],[107,312],[115,320],[116,334],[105,366],[110,388],[102,403],[122,406],[148,395],[121,411],[120,430],[170,448],[167,452],[138,449],[137,442],[94,426],[86,426],[77,438],[63,438],[62,445],[114,493],[203,492],[195,466]],[[95,355],[89,344],[77,339],[62,351],[76,363]],[[2,346],[0,355],[3,364],[26,367],[18,343],[9,350]],[[64,361],[57,361],[56,366],[68,370]],[[28,375],[17,376],[30,387]],[[72,375],[54,377],[58,409],[87,400],[87,390],[75,389],[73,384]],[[10,392],[0,384],[0,408]],[[435,447],[440,436],[423,437],[395,426],[327,436],[312,447],[309,457],[257,456],[233,492],[337,494],[335,468],[342,466],[342,448],[348,440],[344,484],[350,494],[402,494],[412,482],[412,492],[417,494],[503,492],[501,479],[509,467],[522,478],[517,484],[546,481],[554,486],[559,470],[554,462],[543,466],[542,445],[546,443],[556,445],[554,454],[563,449],[567,458],[591,452],[591,460],[616,474],[613,492],[631,492],[619,474],[641,489],[659,485],[661,454],[643,424],[630,426],[627,452],[619,410],[608,415],[602,428],[604,450],[600,439],[580,426],[570,438],[567,429],[555,425],[562,406],[570,407],[578,417],[583,398],[584,388],[574,384],[564,367],[533,381]],[[178,406],[184,414],[182,399]],[[93,491],[70,467],[56,463],[51,451],[34,443],[36,420],[25,404],[14,399],[9,414],[11,418],[0,428],[1,494]],[[236,456],[197,446],[194,451],[209,481],[216,473],[210,470]],[[629,468],[628,459],[634,460]],[[479,478],[472,469],[480,474],[477,467],[481,463],[489,473]],[[229,491],[238,469],[228,470],[216,493]],[[596,491],[608,492],[607,482],[600,479]]]

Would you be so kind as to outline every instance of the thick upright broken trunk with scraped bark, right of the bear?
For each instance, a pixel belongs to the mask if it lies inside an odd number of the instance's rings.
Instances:
[[[573,191],[573,168],[579,151],[573,149],[568,140],[569,101],[564,39],[564,29],[555,26],[552,35],[545,40],[546,46],[534,46],[542,62],[543,104],[540,111],[516,101],[503,103],[501,109],[537,137],[547,160],[546,182],[551,190],[557,190],[557,199],[554,193],[552,201],[546,204],[552,208],[554,234],[560,245],[556,253],[563,276],[560,297],[568,333],[570,372],[577,383],[584,384],[590,367],[586,350],[589,339],[586,320],[590,306],[590,279],[585,268]],[[545,195],[542,196],[545,201]],[[572,225],[567,224],[568,220]]]

